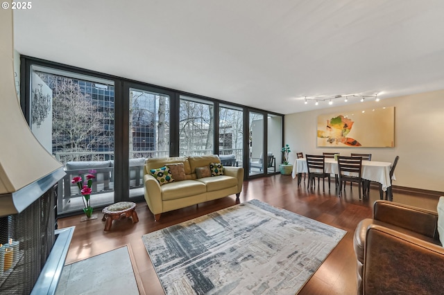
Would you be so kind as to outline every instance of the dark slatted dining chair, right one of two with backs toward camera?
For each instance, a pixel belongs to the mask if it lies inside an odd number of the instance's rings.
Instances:
[[[338,157],[338,170],[339,170],[339,188],[338,195],[342,193],[343,181],[357,182],[359,186],[359,199],[361,196],[362,186],[362,158],[361,157]],[[345,185],[344,185],[345,189]],[[364,193],[364,192],[363,192]],[[365,197],[365,195],[364,195]]]

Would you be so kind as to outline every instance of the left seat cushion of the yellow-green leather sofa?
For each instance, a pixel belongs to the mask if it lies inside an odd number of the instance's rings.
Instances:
[[[199,195],[207,191],[205,184],[196,180],[172,182],[171,184],[165,184],[161,189],[164,201]]]

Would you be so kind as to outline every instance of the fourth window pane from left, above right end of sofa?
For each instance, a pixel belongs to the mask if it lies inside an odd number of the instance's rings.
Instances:
[[[234,166],[244,165],[244,110],[240,107],[219,105],[219,154],[225,159],[234,157]]]

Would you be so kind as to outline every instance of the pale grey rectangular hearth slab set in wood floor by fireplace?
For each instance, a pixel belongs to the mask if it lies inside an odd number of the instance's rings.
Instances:
[[[139,294],[128,247],[65,265],[56,295]]]

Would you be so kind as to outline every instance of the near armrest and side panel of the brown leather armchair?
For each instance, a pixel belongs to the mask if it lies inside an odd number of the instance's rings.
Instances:
[[[368,226],[363,294],[442,294],[444,248],[384,226]]]

